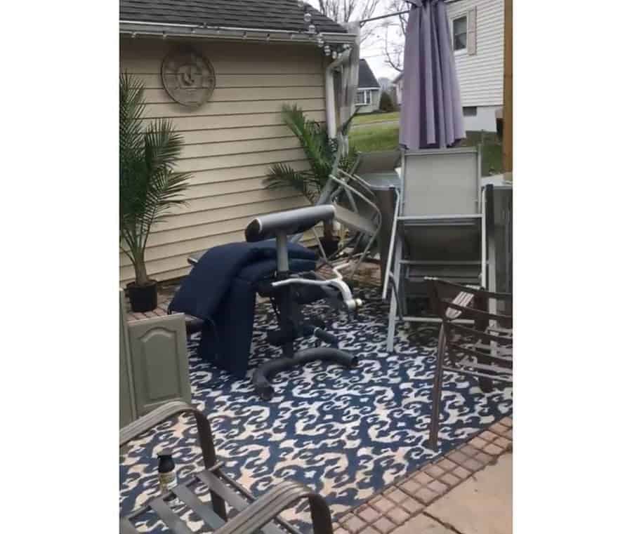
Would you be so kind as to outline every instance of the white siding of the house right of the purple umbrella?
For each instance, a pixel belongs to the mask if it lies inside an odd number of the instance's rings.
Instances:
[[[463,106],[503,104],[503,0],[456,0],[450,20],[476,9],[476,53],[456,53]]]

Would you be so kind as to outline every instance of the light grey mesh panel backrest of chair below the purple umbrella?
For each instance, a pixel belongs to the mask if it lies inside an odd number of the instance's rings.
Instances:
[[[476,148],[404,151],[404,216],[480,213],[480,156]]]

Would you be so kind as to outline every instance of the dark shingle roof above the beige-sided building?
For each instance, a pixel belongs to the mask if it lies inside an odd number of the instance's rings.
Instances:
[[[346,32],[308,6],[320,32]],[[203,24],[253,29],[305,31],[296,0],[120,0],[119,20],[162,24]]]

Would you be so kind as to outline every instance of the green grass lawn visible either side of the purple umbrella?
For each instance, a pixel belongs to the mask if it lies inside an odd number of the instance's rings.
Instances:
[[[377,115],[372,115],[377,116]],[[357,119],[353,119],[354,121]],[[502,145],[495,133],[466,132],[467,138],[461,142],[462,147],[473,147],[482,143],[482,175],[500,173],[502,170]],[[400,144],[400,127],[395,124],[371,128],[351,128],[349,142],[359,152],[376,152],[378,150],[395,150]]]

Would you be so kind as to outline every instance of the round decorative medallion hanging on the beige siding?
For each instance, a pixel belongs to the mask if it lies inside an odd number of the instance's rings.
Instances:
[[[169,96],[186,107],[200,107],[215,89],[215,70],[192,48],[167,54],[162,61],[162,85]]]

